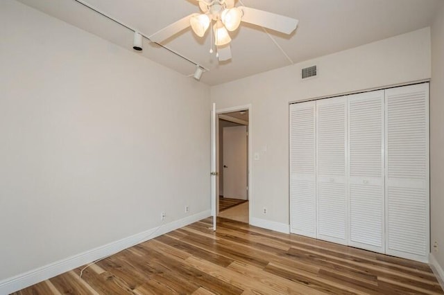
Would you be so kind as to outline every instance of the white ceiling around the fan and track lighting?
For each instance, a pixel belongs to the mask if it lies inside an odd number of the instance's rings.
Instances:
[[[133,51],[132,31],[74,0],[19,1]],[[195,0],[82,1],[147,36],[198,12]],[[209,53],[208,33],[200,39],[187,29],[162,44],[209,69],[201,81],[215,85],[425,28],[431,24],[440,1],[443,0],[242,0],[245,6],[298,19],[298,29],[289,36],[269,30],[268,36],[262,28],[242,24],[231,34],[229,62],[218,62],[214,53]],[[183,75],[192,75],[195,70],[194,64],[146,40],[143,53],[135,54]]]

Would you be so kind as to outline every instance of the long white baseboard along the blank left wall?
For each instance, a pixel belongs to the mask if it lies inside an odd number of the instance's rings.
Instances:
[[[210,210],[203,211],[195,215],[182,218],[181,220],[169,222],[167,224],[163,224],[162,226],[157,226],[154,229],[149,229],[148,231],[131,235],[128,238],[123,238],[121,240],[105,244],[101,247],[79,253],[75,256],[53,262],[49,265],[44,265],[37,269],[26,271],[24,274],[19,274],[18,276],[13,276],[12,278],[1,280],[0,294],[10,294],[12,292],[16,292],[20,289],[24,289],[36,283],[42,282],[43,280],[47,280],[49,278],[53,278],[54,276],[58,276],[59,274],[63,274],[71,269],[75,269],[76,267],[86,265],[87,263],[90,263],[94,260],[98,260],[105,256],[109,256],[113,253],[117,253],[129,247],[132,247],[134,244],[139,244],[141,242],[151,240],[155,237],[158,237],[159,235],[163,235],[164,233],[169,233],[170,231],[180,229],[183,226],[198,222],[199,220],[203,220],[210,216]]]

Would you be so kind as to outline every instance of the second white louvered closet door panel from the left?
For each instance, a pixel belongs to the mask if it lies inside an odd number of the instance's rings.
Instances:
[[[316,102],[316,193],[321,240],[347,244],[347,98]]]

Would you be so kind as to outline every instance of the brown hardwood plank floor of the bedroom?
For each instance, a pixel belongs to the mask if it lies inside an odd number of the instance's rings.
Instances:
[[[219,218],[15,294],[444,294],[429,266]]]

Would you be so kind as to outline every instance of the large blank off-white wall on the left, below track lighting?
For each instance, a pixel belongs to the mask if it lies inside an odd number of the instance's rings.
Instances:
[[[12,0],[0,40],[0,281],[210,209],[209,87]]]

